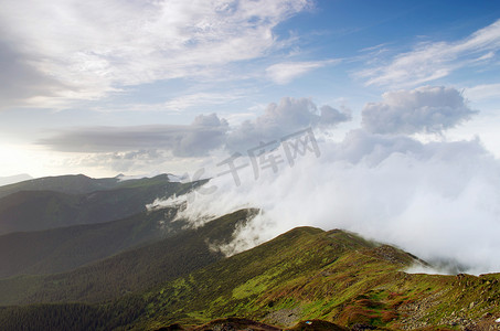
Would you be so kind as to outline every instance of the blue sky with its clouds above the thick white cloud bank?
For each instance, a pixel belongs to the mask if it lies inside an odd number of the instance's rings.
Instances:
[[[479,137],[500,156],[498,1],[1,7],[0,177],[181,172],[211,153],[244,150],[242,141],[252,146],[301,126],[338,141],[370,125],[376,134],[365,109],[427,109],[436,107],[433,98],[447,109],[437,110],[437,124],[373,111],[404,127],[392,134]],[[450,104],[454,90],[467,106]],[[416,94],[426,96],[409,103]],[[339,120],[323,122],[323,106]]]

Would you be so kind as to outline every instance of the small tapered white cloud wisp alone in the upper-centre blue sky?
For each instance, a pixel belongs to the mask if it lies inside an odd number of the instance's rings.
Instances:
[[[276,84],[288,84],[295,78],[302,76],[310,71],[338,62],[338,60],[315,62],[283,62],[267,67],[266,75]]]

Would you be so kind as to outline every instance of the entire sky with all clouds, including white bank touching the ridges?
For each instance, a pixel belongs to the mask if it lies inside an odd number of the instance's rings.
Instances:
[[[212,178],[149,207],[500,271],[498,0],[0,1],[0,179]]]

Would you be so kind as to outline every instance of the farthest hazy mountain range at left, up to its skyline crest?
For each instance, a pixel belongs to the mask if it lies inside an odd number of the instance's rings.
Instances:
[[[125,218],[146,212],[156,197],[183,194],[200,183],[171,182],[167,174],[129,181],[79,174],[2,186],[0,235]]]

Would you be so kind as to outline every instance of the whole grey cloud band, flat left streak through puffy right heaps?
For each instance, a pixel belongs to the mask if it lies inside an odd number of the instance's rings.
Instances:
[[[309,98],[283,98],[254,120],[230,127],[216,114],[199,115],[191,125],[75,128],[41,139],[39,145],[66,152],[169,151],[173,157],[203,157],[216,149],[245,151],[306,127],[332,127],[349,121],[349,109],[317,107]]]

